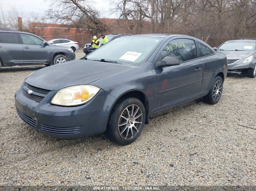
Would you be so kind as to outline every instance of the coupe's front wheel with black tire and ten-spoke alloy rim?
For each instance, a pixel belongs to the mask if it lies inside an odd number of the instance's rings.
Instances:
[[[129,145],[141,134],[145,119],[146,112],[143,103],[135,97],[126,97],[113,107],[106,134],[112,142],[118,145]],[[134,123],[135,121],[138,123]]]

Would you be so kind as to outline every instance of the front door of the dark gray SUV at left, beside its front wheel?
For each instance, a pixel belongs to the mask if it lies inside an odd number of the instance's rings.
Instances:
[[[51,50],[50,46],[45,46],[43,40],[32,35],[20,33],[24,64],[43,64],[50,63]]]

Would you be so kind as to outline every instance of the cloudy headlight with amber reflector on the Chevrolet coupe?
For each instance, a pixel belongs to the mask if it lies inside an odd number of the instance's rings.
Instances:
[[[51,103],[60,106],[82,105],[91,100],[99,91],[100,88],[93,85],[70,86],[59,90]]]

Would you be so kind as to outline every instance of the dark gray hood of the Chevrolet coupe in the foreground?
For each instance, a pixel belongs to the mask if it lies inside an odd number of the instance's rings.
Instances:
[[[131,68],[128,65],[108,62],[73,60],[35,71],[26,78],[25,82],[38,88],[53,91],[73,85],[89,84]]]

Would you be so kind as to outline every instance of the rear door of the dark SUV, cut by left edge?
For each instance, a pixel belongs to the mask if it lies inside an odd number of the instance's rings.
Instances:
[[[0,32],[0,58],[3,65],[23,64],[23,48],[17,33]]]

